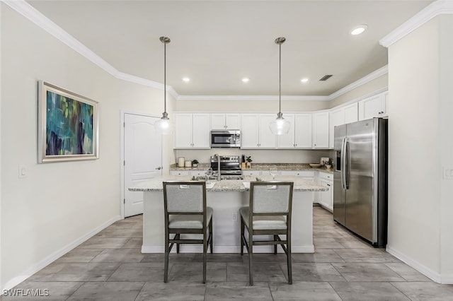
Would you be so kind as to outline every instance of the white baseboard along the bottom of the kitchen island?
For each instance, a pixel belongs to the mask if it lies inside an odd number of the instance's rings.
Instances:
[[[202,253],[201,245],[183,245],[180,247],[180,253]],[[164,246],[144,246],[142,245],[142,253],[164,253]],[[173,247],[171,252],[176,253],[176,248]],[[241,253],[241,248],[239,246],[214,246],[212,250],[214,253]],[[253,253],[272,253],[272,246],[256,246],[253,247]],[[282,248],[277,248],[278,253],[283,253]],[[292,253],[314,253],[314,245],[309,246],[292,246]]]

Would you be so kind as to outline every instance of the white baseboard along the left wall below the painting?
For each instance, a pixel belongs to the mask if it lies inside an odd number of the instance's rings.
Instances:
[[[94,235],[98,234],[98,232],[101,232],[105,228],[107,228],[109,225],[112,225],[115,223],[117,220],[120,220],[120,216],[115,216],[111,218],[110,220],[106,221],[102,225],[100,225],[98,228],[86,233],[86,235],[83,235],[79,237],[78,239],[74,240],[74,242],[71,242],[70,244],[67,244],[66,246],[62,247],[61,249],[57,250],[56,252],[53,252],[49,256],[45,257],[45,259],[42,259],[38,263],[34,264],[33,266],[30,266],[26,271],[23,271],[21,275],[16,276],[9,280],[8,282],[4,283],[1,285],[0,291],[3,290],[11,290],[11,288],[15,287],[19,283],[25,281],[28,277],[32,276],[34,273],[40,271],[42,268],[45,268],[47,265],[51,264],[53,261],[59,259],[59,257],[63,256],[67,252],[71,251],[71,249],[74,249],[77,247],[79,244],[82,242],[85,242],[86,240],[90,239]]]

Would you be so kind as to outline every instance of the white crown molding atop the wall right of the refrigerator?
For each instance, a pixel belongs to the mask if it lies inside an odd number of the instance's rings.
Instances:
[[[419,28],[421,25],[427,23],[432,18],[442,14],[453,13],[453,1],[451,0],[437,0],[432,4],[426,6],[421,11],[415,14],[412,18],[401,24],[398,28],[393,30],[389,35],[386,35],[379,44],[384,47],[389,47],[398,40],[402,39],[413,30]]]

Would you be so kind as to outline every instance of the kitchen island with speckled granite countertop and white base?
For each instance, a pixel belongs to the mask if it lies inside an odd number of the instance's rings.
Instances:
[[[143,191],[143,243],[142,253],[164,252],[164,194],[163,181],[188,181],[188,176],[161,176],[139,182],[131,191]],[[256,177],[244,176],[243,180],[210,181],[207,188],[207,206],[213,208],[214,253],[240,252],[239,208],[248,206],[249,189],[244,182],[255,181]],[[263,181],[270,176],[260,176]],[[315,191],[326,191],[325,187],[308,182],[300,177],[277,176],[278,181],[294,182],[292,201],[292,252],[313,253],[313,199]],[[211,187],[214,185],[213,187]],[[257,246],[254,252],[273,252],[272,246]],[[181,245],[180,252],[202,252],[201,245]],[[279,252],[282,250],[279,248]]]

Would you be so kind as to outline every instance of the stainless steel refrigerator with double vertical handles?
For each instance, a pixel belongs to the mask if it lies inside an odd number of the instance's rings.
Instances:
[[[387,124],[373,118],[334,130],[333,219],[374,247],[387,238]]]

